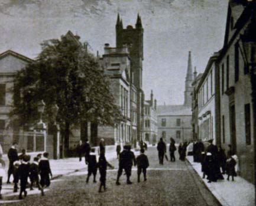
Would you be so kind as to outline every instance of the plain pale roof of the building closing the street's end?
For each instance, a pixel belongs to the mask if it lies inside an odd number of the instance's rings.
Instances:
[[[173,115],[173,116],[182,116],[182,115],[192,115],[191,107],[181,105],[159,105],[157,106],[157,115]]]

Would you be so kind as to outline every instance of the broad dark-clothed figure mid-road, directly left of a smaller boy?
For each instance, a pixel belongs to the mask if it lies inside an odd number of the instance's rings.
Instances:
[[[122,175],[123,169],[125,171],[125,175],[127,176],[127,184],[132,184],[129,178],[131,176],[131,168],[133,164],[136,165],[134,153],[131,151],[131,146],[125,145],[124,150],[119,156],[119,168],[116,178],[116,185],[120,185],[119,178]]]

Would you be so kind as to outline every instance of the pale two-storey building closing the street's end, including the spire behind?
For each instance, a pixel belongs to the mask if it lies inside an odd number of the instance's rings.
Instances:
[[[158,139],[164,138],[170,142],[172,137],[176,142],[193,139],[192,133],[192,87],[193,72],[191,52],[187,64],[185,80],[184,104],[157,106]]]

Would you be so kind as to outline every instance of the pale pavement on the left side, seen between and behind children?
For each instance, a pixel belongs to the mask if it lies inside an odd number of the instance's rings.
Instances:
[[[33,158],[34,156],[36,156],[39,152],[37,153],[28,153],[28,155],[31,156],[31,161],[30,162],[33,162]],[[108,150],[106,149],[106,159],[108,161],[110,161],[111,159],[115,159],[116,158],[116,152],[111,149],[111,150]],[[97,159],[98,159],[98,155],[97,155]],[[7,155],[3,155],[3,158],[4,161],[5,161],[5,171],[6,171],[6,174],[7,174],[7,171],[8,171],[8,165],[9,165],[9,162],[8,162],[8,158],[7,158]],[[85,164],[85,157],[82,158],[82,161],[79,162],[79,158],[65,158],[65,159],[50,159],[50,166],[51,166],[51,172],[53,174],[53,178],[52,179],[57,179],[57,178],[60,178],[61,176],[65,176],[65,175],[71,175],[75,172],[79,172],[79,171],[86,171],[87,170],[87,165]],[[12,182],[12,176],[11,176],[11,179],[10,181]],[[13,189],[14,189],[14,184],[7,184],[7,175],[4,176],[3,178],[3,184],[2,184],[2,191],[1,191],[1,194],[2,194],[2,197],[4,198],[5,196],[12,196],[12,195],[18,195],[18,193],[14,193],[13,192]],[[19,185],[20,187],[20,185]],[[30,192],[33,192],[33,191],[30,191],[29,189],[27,189],[27,192],[28,194]],[[0,200],[0,204],[2,203],[2,201]]]

